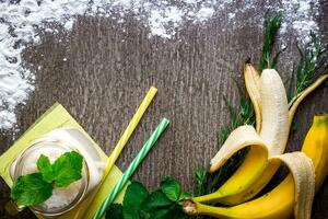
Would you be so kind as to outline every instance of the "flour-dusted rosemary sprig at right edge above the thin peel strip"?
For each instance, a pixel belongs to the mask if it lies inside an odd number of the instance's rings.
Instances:
[[[302,47],[296,45],[300,60],[297,66],[293,68],[289,80],[288,97],[290,106],[300,93],[328,70],[327,45],[323,45],[313,32],[311,32],[309,37],[309,43]]]

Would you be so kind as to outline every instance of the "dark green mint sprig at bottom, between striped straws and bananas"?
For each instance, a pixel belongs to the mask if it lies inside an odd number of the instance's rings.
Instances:
[[[174,177],[163,177],[160,187],[152,193],[134,181],[128,186],[122,204],[110,205],[106,219],[186,219],[180,206],[183,199],[190,196],[181,192]]]

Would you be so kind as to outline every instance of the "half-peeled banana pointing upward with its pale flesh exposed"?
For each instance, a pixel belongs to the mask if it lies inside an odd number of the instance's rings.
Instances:
[[[259,76],[251,64],[246,64],[244,77],[255,110],[256,128],[245,125],[232,131],[211,160],[210,172],[219,170],[236,151],[245,147],[250,147],[250,150],[237,171],[216,192],[192,198],[196,203],[219,201],[237,205],[257,195],[270,182],[281,161],[285,162],[288,158],[279,155],[285,149],[298,104],[321,84],[328,74],[320,77],[300,93],[290,105],[276,70],[266,69]]]

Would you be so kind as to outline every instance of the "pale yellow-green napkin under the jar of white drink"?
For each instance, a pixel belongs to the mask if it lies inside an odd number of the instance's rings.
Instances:
[[[65,110],[59,103],[54,104],[44,115],[42,115],[25,132],[14,142],[12,147],[8,149],[0,157],[0,175],[4,182],[11,187],[13,182],[10,177],[9,169],[12,161],[28,146],[34,139],[61,127],[73,127],[80,130],[93,142],[95,149],[99,152],[104,162],[108,159],[105,152],[96,145],[96,142],[86,134],[86,131],[78,124],[78,122]],[[78,219],[78,218],[92,218],[98,206],[103,203],[105,197],[112,192],[116,182],[121,176],[121,171],[114,166],[104,183],[99,185],[99,188],[90,194],[82,203],[80,203],[74,209],[59,217],[60,219]],[[96,194],[95,194],[96,193]],[[115,200],[121,203],[124,193]],[[92,204],[92,205],[91,205]],[[43,218],[40,215],[34,212],[38,218]]]

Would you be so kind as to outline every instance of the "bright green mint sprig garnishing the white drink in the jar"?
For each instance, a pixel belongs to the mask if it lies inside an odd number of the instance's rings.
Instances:
[[[39,172],[20,176],[12,186],[11,198],[19,206],[36,206],[52,195],[52,189],[66,187],[82,177],[83,157],[75,152],[66,152],[54,164],[42,154],[37,160]]]

